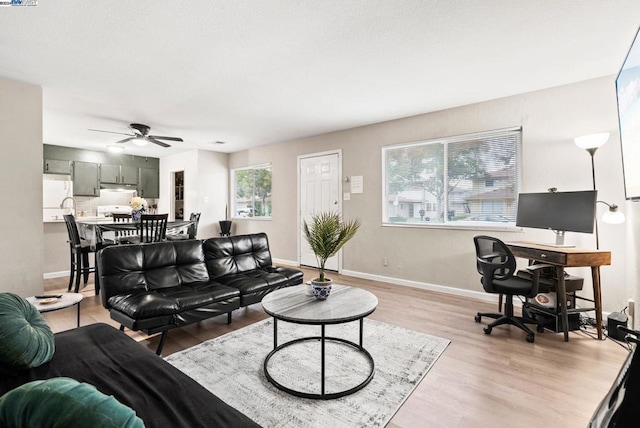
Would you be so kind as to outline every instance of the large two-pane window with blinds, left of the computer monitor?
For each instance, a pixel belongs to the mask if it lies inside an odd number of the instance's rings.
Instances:
[[[383,223],[515,223],[521,140],[518,128],[383,147]]]

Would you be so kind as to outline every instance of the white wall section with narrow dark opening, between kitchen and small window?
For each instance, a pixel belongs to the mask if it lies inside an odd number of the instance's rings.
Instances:
[[[160,199],[158,212],[171,210],[172,173],[184,171],[185,218],[200,212],[198,238],[219,236],[218,220],[224,219],[225,205],[229,199],[228,157],[225,153],[192,150],[160,158]]]

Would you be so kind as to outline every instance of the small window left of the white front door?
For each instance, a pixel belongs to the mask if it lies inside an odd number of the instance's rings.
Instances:
[[[234,218],[271,218],[271,164],[231,171]]]

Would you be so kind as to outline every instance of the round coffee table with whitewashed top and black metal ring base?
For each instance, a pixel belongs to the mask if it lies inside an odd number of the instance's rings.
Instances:
[[[267,380],[276,388],[289,394],[303,398],[316,398],[329,400],[353,394],[364,388],[373,379],[375,363],[373,357],[362,344],[362,328],[364,317],[375,311],[378,306],[378,298],[372,293],[360,288],[346,285],[333,284],[331,295],[326,300],[318,300],[305,294],[304,287],[287,287],[273,291],[262,299],[262,307],[265,312],[273,317],[273,350],[264,359],[264,374]],[[278,345],[278,320],[296,324],[319,325],[320,336],[303,337]],[[325,326],[329,324],[342,324],[350,321],[359,321],[359,343],[354,343],[338,337],[325,335]],[[307,341],[320,341],[320,393],[314,394],[288,388],[269,374],[268,363],[278,351],[288,346]],[[349,345],[362,353],[369,363],[370,371],[367,378],[352,388],[338,392],[325,392],[325,342],[339,342]]]

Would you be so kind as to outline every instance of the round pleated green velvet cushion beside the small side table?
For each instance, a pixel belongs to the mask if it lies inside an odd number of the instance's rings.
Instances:
[[[53,332],[40,312],[13,293],[0,293],[0,364],[38,367],[53,358]]]

